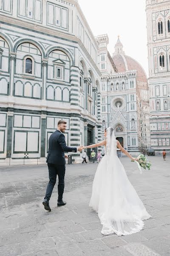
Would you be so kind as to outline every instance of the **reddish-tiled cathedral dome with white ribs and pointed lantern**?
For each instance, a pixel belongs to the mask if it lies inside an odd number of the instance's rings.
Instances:
[[[144,69],[135,59],[125,55],[123,51],[123,45],[120,42],[118,37],[118,41],[115,45],[115,52],[113,53],[113,62],[116,66],[118,73],[126,72],[128,70],[137,70],[136,80],[141,82],[147,82],[147,76],[144,72]]]

